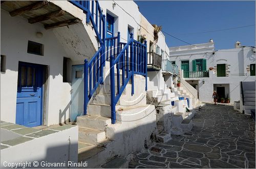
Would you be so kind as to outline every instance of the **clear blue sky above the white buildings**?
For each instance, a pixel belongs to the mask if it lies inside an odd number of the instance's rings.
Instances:
[[[255,46],[255,25],[228,31],[216,31],[255,24],[255,1],[135,1],[140,12],[163,31],[191,44],[215,42],[215,49]],[[169,47],[188,45],[165,34]]]

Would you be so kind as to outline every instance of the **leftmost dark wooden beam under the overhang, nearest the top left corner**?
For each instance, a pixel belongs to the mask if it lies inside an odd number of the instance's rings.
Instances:
[[[34,4],[28,5],[26,7],[22,7],[22,8],[14,10],[14,11],[11,11],[10,15],[11,16],[20,15],[20,14],[23,14],[25,12],[40,9],[40,8],[42,8],[44,6],[48,6],[48,5],[49,5],[49,3],[47,1],[40,1],[38,3],[34,3]]]

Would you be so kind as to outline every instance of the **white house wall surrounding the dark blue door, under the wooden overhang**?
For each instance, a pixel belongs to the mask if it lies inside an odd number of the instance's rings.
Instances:
[[[43,36],[37,38],[36,32]],[[27,53],[28,40],[44,44],[44,56]],[[67,54],[51,30],[39,23],[29,24],[23,17],[10,17],[1,10],[1,54],[6,55],[6,72],[1,72],[1,120],[15,123],[19,61],[48,66],[45,125],[69,118],[71,84],[62,82],[62,62]]]

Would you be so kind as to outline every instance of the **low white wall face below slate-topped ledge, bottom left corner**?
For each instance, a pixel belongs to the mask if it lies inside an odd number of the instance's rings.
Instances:
[[[57,139],[56,139],[57,138]],[[70,140],[70,142],[69,142]],[[32,139],[28,142],[1,150],[1,168],[6,168],[4,162],[39,162],[38,167],[42,166],[41,161],[45,162],[77,162],[78,158],[78,126],[59,131],[53,134]],[[26,151],[25,151],[26,150]],[[5,163],[6,165],[7,163]],[[44,162],[42,162],[44,164]],[[9,167],[8,167],[9,168]],[[19,166],[18,168],[22,168]]]

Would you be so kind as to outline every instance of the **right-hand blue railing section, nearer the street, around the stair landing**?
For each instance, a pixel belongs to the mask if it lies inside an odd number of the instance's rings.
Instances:
[[[120,42],[120,36],[118,41]],[[121,84],[120,71],[122,72]],[[130,79],[132,83],[132,95],[134,94],[134,74],[143,75],[145,76],[145,79],[147,79],[147,52],[146,41],[145,44],[142,44],[134,40],[133,34],[131,34],[130,40],[125,45],[124,43],[118,44],[117,57],[115,57],[114,54],[110,56],[110,93],[112,124],[116,123],[116,104]],[[115,91],[115,85],[117,85],[117,91]],[[147,90],[147,80],[145,85],[145,90]]]

